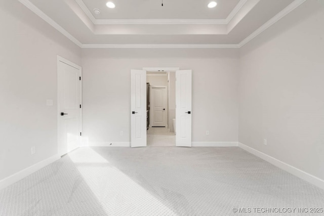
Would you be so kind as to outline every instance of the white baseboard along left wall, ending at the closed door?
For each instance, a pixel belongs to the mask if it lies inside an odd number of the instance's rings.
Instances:
[[[29,176],[33,172],[35,172],[35,171],[49,165],[50,163],[53,163],[54,161],[56,161],[56,160],[58,160],[60,158],[61,157],[58,154],[54,155],[54,156],[49,157],[49,158],[47,158],[45,160],[42,160],[42,161],[40,161],[40,162],[38,162],[38,163],[36,163],[34,165],[31,165],[31,166],[29,166],[29,167],[15,173],[15,174],[11,175],[11,176],[3,179],[3,180],[0,180],[0,190],[6,188],[6,187],[8,187],[8,186],[10,186],[10,185],[12,185],[12,184],[14,184],[16,182],[18,182],[19,180]]]

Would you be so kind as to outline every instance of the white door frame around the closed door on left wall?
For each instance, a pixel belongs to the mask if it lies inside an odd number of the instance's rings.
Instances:
[[[57,89],[57,108],[56,108],[56,113],[57,113],[57,153],[60,154],[59,152],[59,129],[60,129],[60,125],[59,125],[59,109],[60,109],[60,98],[59,98],[59,86],[58,86],[58,75],[59,75],[59,63],[62,62],[64,64],[67,64],[67,65],[70,65],[71,67],[74,67],[78,70],[80,70],[80,105],[81,105],[81,108],[80,108],[80,143],[78,144],[78,147],[81,147],[83,146],[83,139],[82,139],[82,136],[83,136],[83,101],[82,101],[82,96],[83,96],[83,93],[82,93],[82,81],[83,81],[83,76],[82,76],[82,67],[57,55],[57,68],[56,68],[56,71],[57,71],[57,74],[56,74],[56,89]],[[61,156],[61,155],[60,155]]]

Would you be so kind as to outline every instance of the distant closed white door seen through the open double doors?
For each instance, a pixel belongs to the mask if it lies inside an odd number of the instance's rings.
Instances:
[[[154,127],[167,126],[167,87],[151,87],[151,125]]]

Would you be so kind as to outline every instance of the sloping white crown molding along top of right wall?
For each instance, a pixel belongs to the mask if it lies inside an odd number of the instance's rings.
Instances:
[[[295,0],[292,2],[289,6],[287,6],[284,10],[277,13],[274,17],[272,17],[270,20],[268,20],[266,23],[264,23],[260,28],[255,30],[252,34],[247,36],[244,40],[242,40],[238,44],[238,48],[243,47],[246,45],[250,40],[261,34],[263,31],[265,31],[267,28],[269,28],[271,25],[279,21],[281,18],[285,17],[287,14],[295,10],[298,6],[306,2],[307,0]]]

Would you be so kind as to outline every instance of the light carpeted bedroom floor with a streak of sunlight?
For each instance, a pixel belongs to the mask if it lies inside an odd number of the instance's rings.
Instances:
[[[323,190],[238,147],[79,148],[0,191],[0,215],[309,215],[298,211],[311,207],[324,207]]]

